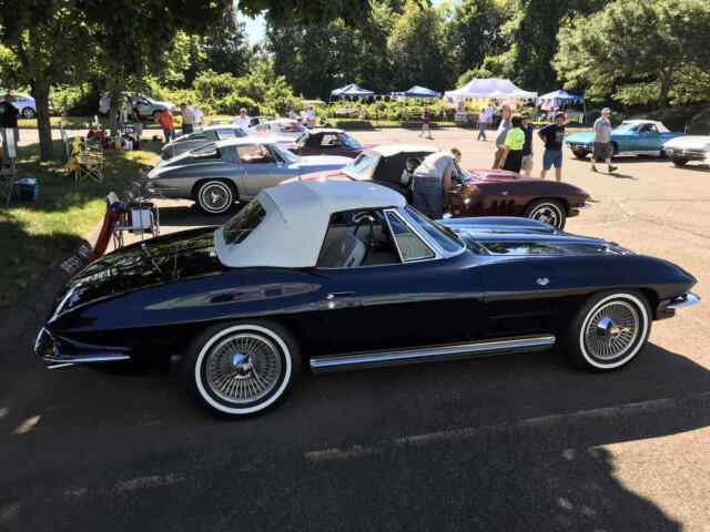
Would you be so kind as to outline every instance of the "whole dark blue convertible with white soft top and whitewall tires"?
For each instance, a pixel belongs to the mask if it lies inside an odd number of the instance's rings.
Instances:
[[[432,222],[374,184],[263,191],[224,226],[106,255],[74,277],[34,350],[50,367],[183,355],[235,417],[297,374],[559,346],[619,368],[651,323],[699,300],[666,260],[526,218]]]

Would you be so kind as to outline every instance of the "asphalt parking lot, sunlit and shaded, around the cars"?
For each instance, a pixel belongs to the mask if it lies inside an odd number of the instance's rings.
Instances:
[[[354,133],[490,165],[474,132],[434,134]],[[565,156],[594,200],[567,231],[672,260],[706,299],[655,324],[628,368],[542,352],[305,375],[234,422],[165,368],[44,371],[27,324],[0,355],[0,530],[710,530],[710,166],[632,158],[606,175]],[[163,232],[213,222],[162,207]]]

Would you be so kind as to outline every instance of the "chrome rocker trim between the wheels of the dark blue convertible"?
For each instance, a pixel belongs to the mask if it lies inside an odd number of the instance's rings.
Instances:
[[[314,357],[310,361],[314,374],[347,371],[353,369],[402,366],[406,364],[453,360],[465,357],[485,357],[521,351],[541,351],[555,345],[555,336],[541,335],[523,338],[471,341],[443,346],[396,349],[389,351],[364,351],[339,356]]]

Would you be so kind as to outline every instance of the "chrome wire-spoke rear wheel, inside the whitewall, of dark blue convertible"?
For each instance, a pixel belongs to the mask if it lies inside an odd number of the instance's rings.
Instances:
[[[278,385],[282,356],[270,339],[252,334],[229,335],[205,361],[205,381],[220,399],[233,405],[258,402]]]

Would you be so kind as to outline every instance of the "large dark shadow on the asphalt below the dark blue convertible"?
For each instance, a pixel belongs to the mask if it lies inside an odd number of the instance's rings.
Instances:
[[[13,494],[27,501],[21,522],[38,530],[50,518],[33,509],[52,500],[63,504],[62,522],[85,520],[82,530],[119,521],[190,530],[197,515],[202,529],[214,530],[680,530],[616,478],[604,446],[710,424],[710,372],[655,345],[608,375],[572,370],[544,352],[305,377],[272,413],[226,422],[195,407],[176,377],[39,374],[32,366],[42,381],[33,406],[10,408],[41,415],[42,431],[6,458],[23,463],[23,477],[41,479],[51,449],[103,449],[80,460],[72,477],[89,485],[85,502],[102,508],[100,516],[68,504],[65,482],[52,480],[38,500],[32,483],[18,480]],[[140,504],[144,493],[122,492],[126,516],[102,485],[126,474],[114,463],[154,474],[146,471],[158,449],[161,470],[185,482],[151,492],[149,505]],[[32,459],[23,461],[22,450]],[[199,460],[187,458],[195,452]],[[248,514],[229,510],[235,478],[255,494]]]

